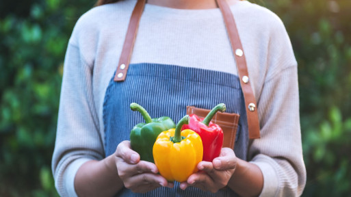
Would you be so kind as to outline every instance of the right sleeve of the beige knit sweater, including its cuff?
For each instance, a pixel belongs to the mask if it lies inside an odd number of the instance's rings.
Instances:
[[[306,183],[306,170],[297,64],[281,21],[272,28],[270,39],[268,73],[257,99],[261,138],[252,141],[249,159],[263,173],[261,196],[300,196]]]

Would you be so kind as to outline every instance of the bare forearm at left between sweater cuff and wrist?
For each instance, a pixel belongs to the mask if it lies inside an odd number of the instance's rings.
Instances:
[[[75,176],[78,196],[114,196],[123,187],[118,177],[114,155],[101,161],[87,161]]]

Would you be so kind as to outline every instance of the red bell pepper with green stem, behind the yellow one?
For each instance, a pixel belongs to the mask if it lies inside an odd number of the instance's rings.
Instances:
[[[199,118],[195,114],[190,114],[189,124],[185,124],[182,129],[192,129],[200,135],[203,140],[203,161],[210,161],[220,155],[223,145],[223,131],[218,124],[211,122],[217,111],[224,112],[226,105],[220,103],[213,107],[205,118]]]

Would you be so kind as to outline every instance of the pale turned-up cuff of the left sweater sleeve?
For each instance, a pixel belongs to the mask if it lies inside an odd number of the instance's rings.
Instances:
[[[64,172],[64,187],[66,188],[66,194],[68,196],[78,197],[75,192],[75,174],[77,174],[78,169],[86,163],[86,161],[90,161],[88,158],[76,159],[70,165],[68,165],[67,170]]]

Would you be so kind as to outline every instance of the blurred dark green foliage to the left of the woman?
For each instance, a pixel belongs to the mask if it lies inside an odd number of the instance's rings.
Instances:
[[[0,196],[57,196],[51,157],[64,54],[94,3],[0,3]]]

